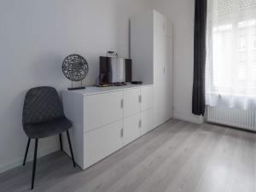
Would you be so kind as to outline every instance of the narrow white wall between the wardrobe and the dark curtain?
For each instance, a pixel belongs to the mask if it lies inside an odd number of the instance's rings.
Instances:
[[[202,118],[192,113],[195,0],[151,0],[151,3],[172,20],[174,27],[174,117],[201,123]]]

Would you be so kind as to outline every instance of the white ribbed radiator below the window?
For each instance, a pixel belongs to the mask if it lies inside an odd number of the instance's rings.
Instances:
[[[256,110],[207,107],[207,122],[256,131]]]

